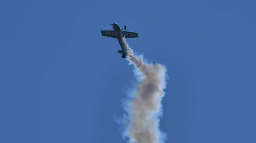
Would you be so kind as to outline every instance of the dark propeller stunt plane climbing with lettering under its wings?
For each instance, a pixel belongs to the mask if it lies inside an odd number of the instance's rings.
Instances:
[[[118,50],[118,53],[122,54],[122,58],[124,59],[126,57],[126,51],[125,46],[123,45],[123,42],[121,41],[122,38],[125,36],[125,38],[137,38],[139,37],[137,33],[135,32],[128,32],[126,31],[126,26],[123,28],[125,31],[122,31],[123,29],[120,29],[117,23],[110,24],[113,26],[113,31],[103,31],[101,30],[102,36],[108,36],[111,38],[118,39],[119,45],[121,46],[122,50]]]

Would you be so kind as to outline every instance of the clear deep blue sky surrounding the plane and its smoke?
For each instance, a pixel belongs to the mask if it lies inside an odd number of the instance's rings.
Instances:
[[[0,143],[125,143],[119,22],[169,80],[166,143],[256,143],[254,0],[2,0]]]

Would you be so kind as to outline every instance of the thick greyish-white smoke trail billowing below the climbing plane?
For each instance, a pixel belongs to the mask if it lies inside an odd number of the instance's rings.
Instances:
[[[130,143],[162,143],[165,134],[159,130],[162,114],[161,100],[166,88],[166,68],[161,64],[147,64],[134,53],[123,38],[128,61],[134,64],[141,80],[134,90],[134,98],[128,102],[129,121],[126,136]]]

